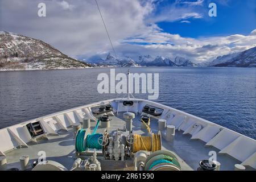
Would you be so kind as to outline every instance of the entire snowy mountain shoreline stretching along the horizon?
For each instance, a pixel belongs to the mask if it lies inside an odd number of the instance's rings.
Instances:
[[[218,56],[203,64],[179,56],[170,59],[141,55],[133,60],[110,53],[105,59],[81,61],[65,55],[42,40],[1,31],[0,50],[0,71],[92,67],[256,67],[256,47]]]

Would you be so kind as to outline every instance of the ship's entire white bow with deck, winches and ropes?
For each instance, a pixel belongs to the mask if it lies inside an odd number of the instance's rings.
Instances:
[[[138,98],[95,102],[0,130],[1,170],[255,170],[256,141]]]

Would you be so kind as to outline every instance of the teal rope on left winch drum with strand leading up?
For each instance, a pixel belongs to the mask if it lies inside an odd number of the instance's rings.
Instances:
[[[100,150],[102,148],[102,145],[100,144],[100,140],[102,139],[99,139],[99,138],[102,137],[103,135],[96,133],[99,123],[100,123],[100,119],[98,119],[97,124],[94,127],[93,133],[87,135],[86,142],[84,142],[86,130],[80,129],[79,131],[77,131],[76,145],[75,145],[76,151],[83,152],[86,150],[86,148],[95,148],[97,150]]]

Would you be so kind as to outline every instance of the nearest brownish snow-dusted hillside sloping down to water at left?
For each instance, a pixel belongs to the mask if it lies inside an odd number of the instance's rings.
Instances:
[[[0,31],[0,70],[86,68],[42,40]]]

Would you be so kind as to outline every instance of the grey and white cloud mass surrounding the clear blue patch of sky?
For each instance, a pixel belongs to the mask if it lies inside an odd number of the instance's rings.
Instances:
[[[44,18],[37,16],[39,2],[45,2],[47,6]],[[1,1],[0,29],[43,40],[73,57],[88,59],[111,51],[95,2],[76,0],[72,5],[68,2],[71,1]],[[109,0],[98,1],[98,4],[118,55],[183,56],[201,62],[243,51],[256,44],[256,30],[247,36],[236,34],[193,39],[163,32],[155,23],[162,20],[188,23],[187,18],[203,16],[193,8],[170,6],[156,15],[152,1]]]

